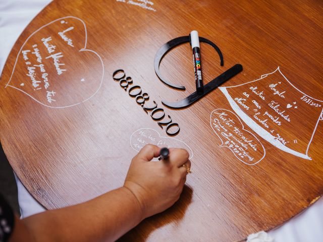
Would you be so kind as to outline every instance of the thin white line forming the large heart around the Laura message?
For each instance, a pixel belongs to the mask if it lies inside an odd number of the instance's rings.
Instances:
[[[68,106],[61,106],[61,107],[53,107],[53,106],[49,106],[49,105],[46,105],[46,104],[44,104],[44,103],[40,102],[39,100],[37,100],[36,98],[34,98],[34,97],[33,97],[33,96],[31,96],[30,94],[28,94],[27,92],[25,92],[25,91],[23,91],[23,90],[21,90],[21,89],[19,89],[19,88],[17,88],[17,87],[11,86],[11,85],[9,85],[9,83],[11,82],[11,79],[12,79],[12,77],[13,77],[13,75],[14,75],[15,68],[16,68],[16,64],[17,64],[17,61],[18,61],[18,57],[19,57],[19,55],[20,55],[20,53],[21,53],[21,51],[22,51],[23,47],[25,46],[25,44],[28,42],[28,40],[29,40],[29,39],[30,39],[34,34],[36,34],[36,33],[37,33],[38,31],[40,31],[41,29],[45,28],[46,26],[48,26],[48,25],[50,25],[50,24],[52,24],[52,23],[55,23],[55,22],[57,22],[57,21],[60,21],[60,20],[63,20],[63,19],[68,19],[68,18],[76,19],[76,20],[79,20],[79,21],[81,21],[81,22],[82,22],[82,24],[83,24],[83,26],[84,26],[84,31],[85,31],[85,44],[84,44],[84,48],[80,49],[80,50],[79,50],[79,52],[82,52],[82,51],[90,51],[90,52],[92,52],[92,53],[94,53],[94,54],[96,54],[96,55],[97,55],[97,57],[99,58],[99,60],[100,60],[100,62],[101,62],[101,65],[102,65],[102,77],[101,77],[101,82],[100,82],[99,87],[97,88],[97,90],[96,90],[96,91],[95,91],[95,92],[94,92],[90,97],[86,98],[85,100],[83,100],[83,101],[81,101],[81,102],[78,102],[78,103],[75,103],[75,104],[72,104],[72,105],[68,105]],[[29,97],[31,97],[32,99],[34,99],[36,102],[40,103],[41,105],[44,105],[44,106],[46,106],[46,107],[50,107],[50,108],[65,108],[65,107],[72,107],[72,106],[78,105],[78,104],[80,104],[80,103],[82,103],[82,102],[85,102],[85,101],[89,100],[90,98],[92,98],[92,97],[93,97],[93,96],[98,92],[98,90],[99,90],[99,89],[101,88],[101,86],[102,86],[102,82],[103,82],[103,75],[104,75],[104,65],[103,65],[103,61],[102,61],[101,56],[100,56],[97,52],[95,52],[94,50],[86,49],[86,44],[87,44],[87,30],[86,30],[86,25],[85,25],[84,21],[83,21],[82,19],[80,19],[80,18],[77,18],[77,17],[74,17],[74,16],[66,16],[66,17],[63,17],[63,18],[59,18],[59,19],[53,20],[53,21],[51,21],[50,23],[48,23],[48,24],[45,24],[45,25],[41,26],[39,29],[37,29],[36,31],[34,31],[34,32],[33,32],[33,33],[32,33],[32,34],[31,34],[31,35],[26,39],[26,41],[24,42],[24,44],[21,46],[21,48],[20,48],[20,50],[19,50],[19,52],[18,52],[18,54],[17,54],[16,62],[15,62],[14,68],[13,68],[13,70],[12,70],[11,77],[10,77],[10,79],[9,79],[9,82],[8,82],[8,83],[7,83],[7,85],[5,86],[5,88],[7,88],[7,86],[12,87],[12,88],[15,88],[15,89],[17,89],[17,90],[19,90],[19,91],[21,91],[21,92],[25,93],[26,95],[28,95]]]

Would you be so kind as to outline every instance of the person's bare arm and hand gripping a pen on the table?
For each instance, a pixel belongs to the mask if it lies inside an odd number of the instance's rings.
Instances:
[[[191,167],[189,154],[146,145],[132,159],[124,186],[88,202],[16,219],[12,241],[115,241],[142,219],[160,213],[180,197]]]

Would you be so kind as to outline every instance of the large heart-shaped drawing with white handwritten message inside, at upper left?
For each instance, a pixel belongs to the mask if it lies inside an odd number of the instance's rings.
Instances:
[[[86,25],[77,17],[43,25],[21,46],[5,88],[51,108],[85,102],[98,92],[104,74],[102,58],[86,45]]]

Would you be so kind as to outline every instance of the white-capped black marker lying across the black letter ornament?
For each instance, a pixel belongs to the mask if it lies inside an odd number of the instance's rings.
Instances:
[[[200,57],[200,41],[198,39],[198,32],[196,30],[191,32],[191,45],[193,50],[196,91],[200,93],[203,92],[203,81]]]

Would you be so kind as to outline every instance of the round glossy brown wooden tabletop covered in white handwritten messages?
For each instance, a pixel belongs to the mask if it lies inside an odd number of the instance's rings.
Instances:
[[[238,241],[274,228],[323,193],[322,8],[53,1],[21,34],[1,76],[5,153],[28,191],[53,209],[122,186],[147,143],[186,148],[193,173],[180,200],[121,240]],[[157,78],[154,57],[193,29],[224,56],[221,67],[201,43],[204,84],[236,64],[243,71],[192,105],[169,108],[161,101],[195,91],[192,51],[184,43],[160,64],[185,91]]]

